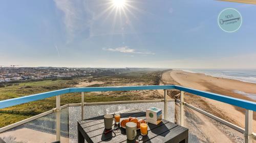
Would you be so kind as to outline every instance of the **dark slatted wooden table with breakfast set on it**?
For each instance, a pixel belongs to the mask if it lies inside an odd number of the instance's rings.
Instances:
[[[129,117],[136,117],[138,119],[145,119],[146,113],[139,109],[127,109],[120,111],[121,120]],[[114,121],[113,121],[114,125]],[[104,120],[103,116],[78,121],[78,142],[136,142],[140,135],[140,130],[137,130],[137,137],[135,140],[127,140],[125,129],[121,128],[121,132],[110,132],[104,134]],[[188,129],[181,127],[172,122],[162,120],[158,125],[148,123],[148,134],[143,136],[140,142],[188,142]]]

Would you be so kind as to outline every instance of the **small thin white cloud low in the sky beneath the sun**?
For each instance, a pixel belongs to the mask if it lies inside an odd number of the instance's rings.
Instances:
[[[123,52],[123,53],[137,53],[137,54],[155,54],[150,51],[138,52],[135,49],[129,48],[128,46],[117,47],[117,48],[102,48],[105,51]]]

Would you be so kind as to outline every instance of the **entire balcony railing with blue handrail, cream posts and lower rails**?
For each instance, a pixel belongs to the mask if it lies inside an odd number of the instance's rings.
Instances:
[[[32,121],[34,119],[37,119],[39,117],[43,117],[45,115],[48,115],[51,112],[56,112],[56,140],[60,140],[60,109],[65,108],[70,105],[79,105],[81,106],[81,119],[84,119],[84,105],[87,104],[119,104],[119,103],[137,103],[137,102],[154,102],[154,101],[123,101],[123,102],[103,102],[103,103],[84,103],[84,92],[106,92],[106,91],[137,91],[137,90],[164,90],[164,99],[160,100],[155,100],[156,102],[163,101],[164,106],[163,106],[163,112],[164,112],[164,118],[167,119],[168,115],[168,106],[167,102],[170,101],[170,99],[167,99],[167,90],[179,90],[180,91],[180,100],[177,100],[177,102],[180,103],[179,108],[180,108],[180,118],[179,118],[179,123],[181,126],[184,126],[184,106],[189,107],[191,109],[194,109],[196,111],[199,111],[200,113],[203,113],[203,115],[212,118],[214,120],[217,120],[226,126],[229,126],[230,128],[233,128],[241,133],[244,134],[245,136],[245,142],[252,142],[253,141],[253,129],[252,129],[252,122],[253,122],[253,111],[256,111],[256,103],[247,101],[247,100],[242,100],[238,98],[233,98],[229,96],[224,96],[220,94],[214,94],[214,93],[209,93],[209,92],[204,92],[204,91],[199,91],[199,90],[194,90],[194,89],[189,89],[185,87],[181,87],[178,85],[148,85],[148,86],[134,86],[134,87],[93,87],[93,88],[68,88],[68,89],[62,89],[62,90],[57,90],[57,91],[52,91],[52,92],[46,92],[46,93],[40,93],[40,94],[34,94],[30,96],[24,96],[24,97],[19,97],[19,98],[13,98],[13,99],[8,99],[8,100],[3,100],[0,101],[0,109],[14,106],[14,105],[19,105],[23,103],[28,103],[31,101],[36,101],[40,99],[45,99],[49,97],[56,96],[56,108],[54,108],[52,111],[47,111],[44,113],[41,113],[40,115],[37,115],[35,117],[26,119],[24,121],[20,121],[17,123],[14,123],[12,125],[3,127],[0,129],[0,133],[7,131],[9,129],[12,129],[13,127],[16,127],[18,125],[22,125],[24,123],[27,123],[29,121]],[[81,103],[78,104],[69,104],[69,105],[64,105],[60,106],[60,96],[62,94],[67,94],[67,93],[81,93]],[[201,110],[195,106],[192,106],[190,104],[187,104],[184,102],[184,92],[190,93],[190,94],[195,94],[201,97],[209,98],[212,100],[224,102],[230,105],[238,106],[241,108],[245,109],[245,129],[238,127],[237,125],[231,124],[223,119],[220,119],[214,115],[211,115],[210,113]]]

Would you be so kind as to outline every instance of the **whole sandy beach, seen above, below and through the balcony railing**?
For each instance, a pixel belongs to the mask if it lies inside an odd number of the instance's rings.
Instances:
[[[250,93],[250,94],[256,94],[256,84],[255,83],[248,83],[248,82],[243,82],[239,80],[234,80],[234,79],[228,79],[228,78],[221,78],[221,77],[213,77],[209,75],[205,75],[203,73],[190,73],[190,72],[185,72],[182,70],[170,70],[162,75],[162,84],[177,84],[177,85],[182,85],[183,87],[187,88],[193,88],[197,90],[202,90],[202,91],[207,91],[207,92],[212,92],[212,93],[217,93],[221,95],[226,95],[234,98],[240,98],[240,99],[245,99],[249,101],[254,101],[254,99],[250,98],[250,96],[246,96],[243,94],[239,93]],[[238,92],[239,91],[239,92]],[[196,107],[199,107],[200,109],[203,109],[215,116],[218,116],[230,123],[233,123],[235,125],[238,125],[242,128],[244,128],[245,124],[245,110],[240,107],[232,106],[226,103],[222,103],[219,101],[211,100],[208,98],[196,96],[196,95],[191,95],[191,94],[185,94],[184,98],[185,102],[194,105]],[[197,118],[201,118],[201,120],[204,121],[205,126],[202,127],[199,125],[198,128],[200,130],[205,130],[208,132],[208,134],[218,134],[219,137],[217,138],[212,138],[210,137],[210,140],[218,140],[218,138],[223,139],[225,138],[222,134],[223,131],[221,129],[205,129],[207,126],[208,127],[214,127],[216,126],[215,123],[212,123],[209,121],[209,119],[206,119],[200,113],[189,110],[190,113],[193,112],[197,116]],[[253,130],[256,132],[256,114],[254,112],[253,114]],[[200,127],[201,126],[201,127]],[[218,133],[219,132],[219,133]],[[207,133],[206,133],[207,135]],[[224,134],[225,135],[225,134]],[[223,136],[220,137],[220,136]],[[227,136],[227,135],[225,135]],[[227,136],[228,137],[228,136]],[[227,139],[230,139],[228,137]],[[223,140],[219,140],[223,141]],[[231,142],[234,141],[231,139]],[[236,140],[237,141],[237,140]],[[229,141],[226,141],[229,142]]]

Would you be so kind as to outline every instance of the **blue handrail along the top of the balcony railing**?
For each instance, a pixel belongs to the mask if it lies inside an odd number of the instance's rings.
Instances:
[[[46,93],[34,94],[24,97],[18,97],[8,100],[0,101],[0,109],[19,105],[23,103],[28,103],[31,101],[36,101],[40,99],[45,99],[57,95],[67,94],[67,93],[76,93],[76,92],[105,92],[105,91],[136,91],[136,90],[170,90],[176,89],[184,91],[187,93],[195,94],[198,96],[206,97],[209,99],[217,100],[227,104],[235,105],[242,107],[248,110],[256,111],[256,102],[247,101],[243,99],[233,98],[229,96],[224,96],[220,94],[204,92],[199,90],[194,90],[190,88],[181,87],[178,85],[146,85],[146,86],[133,86],[133,87],[93,87],[93,88],[68,88],[57,91],[51,91]]]

